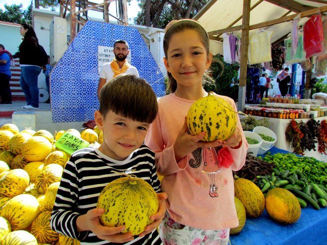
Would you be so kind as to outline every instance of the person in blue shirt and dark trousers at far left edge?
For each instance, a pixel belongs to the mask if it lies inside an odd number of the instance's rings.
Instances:
[[[0,104],[11,104],[11,91],[9,81],[11,78],[10,65],[13,57],[4,46],[0,44]]]

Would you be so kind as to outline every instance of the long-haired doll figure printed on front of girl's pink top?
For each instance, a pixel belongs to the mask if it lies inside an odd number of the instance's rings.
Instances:
[[[215,174],[220,172],[219,160],[217,152],[222,148],[209,147],[209,148],[197,148],[192,152],[194,159],[190,159],[188,164],[193,168],[198,168],[201,163],[204,163],[202,172],[208,174],[209,177],[209,195],[210,197],[218,197],[218,187],[215,183]],[[201,180],[195,180],[196,184],[200,185]]]

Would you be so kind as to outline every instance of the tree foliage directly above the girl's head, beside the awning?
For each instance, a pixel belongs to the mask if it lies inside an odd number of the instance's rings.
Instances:
[[[171,20],[193,18],[208,0],[138,0],[138,2],[141,11],[134,22],[164,28]]]

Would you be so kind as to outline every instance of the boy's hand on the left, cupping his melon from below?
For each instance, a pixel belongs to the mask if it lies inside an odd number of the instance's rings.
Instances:
[[[126,243],[132,241],[134,237],[131,232],[119,234],[125,229],[125,226],[107,227],[100,223],[99,217],[104,213],[103,208],[94,208],[87,211],[86,214],[81,215],[77,220],[77,227],[79,231],[90,230],[98,238],[107,240],[112,243]]]

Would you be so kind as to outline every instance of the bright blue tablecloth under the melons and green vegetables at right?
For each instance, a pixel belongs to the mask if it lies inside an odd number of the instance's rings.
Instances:
[[[288,153],[272,147],[271,154]],[[256,219],[247,219],[239,234],[231,235],[232,245],[323,245],[327,244],[327,208],[301,209],[301,217],[291,225],[274,222],[266,212]]]

